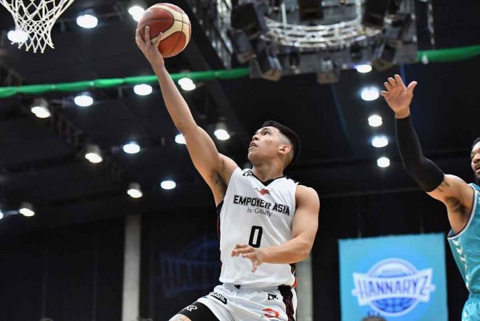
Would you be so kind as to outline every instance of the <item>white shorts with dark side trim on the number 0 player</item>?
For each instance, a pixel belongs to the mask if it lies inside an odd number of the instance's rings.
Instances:
[[[290,286],[237,289],[222,284],[197,302],[205,304],[220,321],[295,321],[297,312],[297,293]]]

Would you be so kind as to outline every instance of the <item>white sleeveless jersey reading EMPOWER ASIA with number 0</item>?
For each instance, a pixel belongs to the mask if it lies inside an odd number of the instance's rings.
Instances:
[[[236,168],[219,204],[220,282],[263,288],[293,286],[295,277],[290,264],[258,266],[252,273],[252,261],[232,257],[237,244],[256,248],[276,246],[292,239],[297,182],[279,177],[264,185],[251,170]]]

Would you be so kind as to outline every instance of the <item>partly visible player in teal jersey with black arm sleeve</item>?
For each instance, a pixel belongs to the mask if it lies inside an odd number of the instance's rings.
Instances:
[[[430,159],[422,155],[417,134],[412,126],[410,101],[417,81],[408,87],[399,75],[388,78],[382,91],[388,106],[394,111],[397,142],[406,171],[423,191],[447,207],[452,227],[448,243],[470,296],[463,307],[462,321],[480,321],[480,137],[475,139],[470,157],[475,182],[467,184],[454,175],[446,175]]]

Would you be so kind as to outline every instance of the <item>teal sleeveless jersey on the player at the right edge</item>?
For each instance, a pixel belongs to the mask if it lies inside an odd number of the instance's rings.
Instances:
[[[462,321],[480,321],[480,186],[474,188],[472,213],[466,226],[457,234],[450,231],[448,244],[457,262],[470,298],[463,307]]]

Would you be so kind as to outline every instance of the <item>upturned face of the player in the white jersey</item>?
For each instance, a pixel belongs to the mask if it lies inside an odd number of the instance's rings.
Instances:
[[[282,144],[284,142],[280,130],[272,126],[260,128],[248,146],[248,159],[254,164],[277,157]]]

